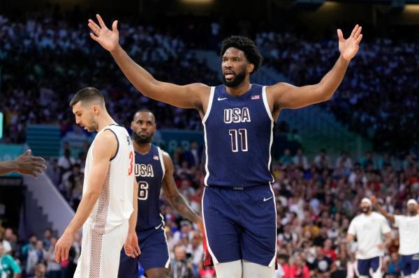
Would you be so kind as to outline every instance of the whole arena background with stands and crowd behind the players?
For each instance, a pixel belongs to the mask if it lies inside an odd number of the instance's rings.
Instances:
[[[96,13],[108,25],[119,20],[120,43],[135,61],[177,84],[220,84],[219,43],[232,34],[255,40],[264,56],[252,82],[312,84],[338,57],[336,29],[346,37],[355,24],[362,26],[360,51],[332,100],[281,111],[275,128],[284,266],[305,264],[311,277],[354,277],[353,256],[342,242],[360,199],[375,194],[391,213],[404,213],[406,200],[418,199],[419,1],[1,1],[0,159],[31,148],[49,165],[36,180],[0,178],[0,240],[10,243],[22,277],[70,277],[74,268],[78,245],[73,261],[54,264],[48,234],[61,235],[80,201],[93,135],[75,125],[68,102],[84,86],[103,91],[108,111],[127,128],[137,109],[156,114],[155,143],[172,156],[179,191],[200,212],[198,112],[140,95],[89,38],[87,20]],[[186,247],[193,277],[213,277],[200,263],[196,227],[164,196],[161,210],[170,248]],[[31,246],[33,234],[39,242]],[[397,230],[393,238],[383,264],[388,277],[399,275]],[[323,276],[322,260],[328,267]]]

